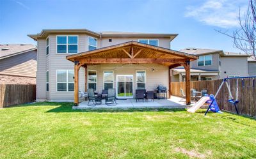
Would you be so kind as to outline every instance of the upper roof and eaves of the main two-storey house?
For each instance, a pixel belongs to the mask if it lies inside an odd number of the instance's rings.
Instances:
[[[43,29],[41,33],[38,34],[28,34],[30,38],[37,40],[38,38],[47,38],[49,34],[69,34],[69,33],[85,33],[100,37],[168,37],[172,41],[178,34],[169,33],[135,33],[135,32],[122,32],[122,31],[102,31],[95,32],[88,29]]]

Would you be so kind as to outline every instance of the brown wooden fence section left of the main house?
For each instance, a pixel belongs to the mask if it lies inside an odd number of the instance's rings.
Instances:
[[[35,100],[35,84],[0,84],[0,107],[34,102]]]

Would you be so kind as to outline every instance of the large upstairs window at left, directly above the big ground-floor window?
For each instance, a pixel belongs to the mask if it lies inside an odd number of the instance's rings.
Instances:
[[[77,53],[78,36],[57,36],[57,53]]]

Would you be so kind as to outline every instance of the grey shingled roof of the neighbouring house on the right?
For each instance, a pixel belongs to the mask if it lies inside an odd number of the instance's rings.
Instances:
[[[215,49],[199,49],[199,48],[188,48],[180,50],[182,52],[186,52],[188,54],[194,55],[206,55],[206,54],[220,54],[220,56],[229,56],[229,57],[249,57],[248,54],[236,53],[236,52],[224,52],[223,50],[215,50]]]

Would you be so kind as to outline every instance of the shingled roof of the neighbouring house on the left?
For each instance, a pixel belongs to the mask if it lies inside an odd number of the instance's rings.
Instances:
[[[32,44],[0,44],[0,59],[36,50]]]

